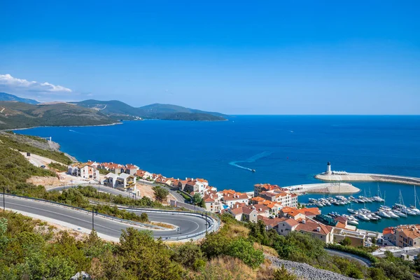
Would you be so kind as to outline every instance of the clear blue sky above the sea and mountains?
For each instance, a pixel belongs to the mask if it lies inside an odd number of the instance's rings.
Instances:
[[[419,1],[6,1],[2,10],[0,91],[20,96],[230,114],[420,113]]]

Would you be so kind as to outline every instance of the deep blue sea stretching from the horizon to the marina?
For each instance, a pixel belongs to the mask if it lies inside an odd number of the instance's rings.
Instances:
[[[219,190],[252,191],[255,183],[316,183],[314,175],[328,161],[332,170],[420,177],[420,116],[232,116],[223,122],[144,120],[16,132],[52,137],[80,161],[133,163],[168,177],[204,178]],[[360,195],[377,193],[377,183],[353,185],[362,190]],[[406,205],[414,204],[413,186],[379,187],[387,205],[396,202],[399,190]],[[300,202],[309,197],[319,195],[302,196]],[[353,204],[358,207],[363,205]],[[377,209],[379,204],[366,207]],[[322,211],[345,213],[346,208]],[[360,228],[381,230],[400,223],[420,223],[420,216],[362,222]]]

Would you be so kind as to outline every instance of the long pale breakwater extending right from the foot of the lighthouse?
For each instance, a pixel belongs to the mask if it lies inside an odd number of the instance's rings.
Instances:
[[[420,178],[398,175],[386,174],[367,174],[367,173],[343,173],[328,174],[326,172],[315,176],[321,181],[334,182],[388,182],[388,183],[402,183],[407,185],[420,185]]]

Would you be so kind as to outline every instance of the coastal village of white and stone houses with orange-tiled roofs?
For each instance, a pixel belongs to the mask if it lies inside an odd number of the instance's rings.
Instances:
[[[302,207],[294,188],[281,188],[269,183],[258,183],[253,192],[217,190],[209,181],[200,178],[175,179],[140,169],[137,165],[121,165],[114,162],[76,163],[69,165],[68,174],[82,180],[96,182],[125,190],[141,197],[142,188],[161,184],[179,193],[202,197],[202,206],[214,214],[230,214],[237,221],[257,223],[262,221],[267,230],[274,229],[279,235],[289,232],[307,232],[326,244],[349,239],[352,246],[381,245],[404,251],[404,258],[414,258],[420,248],[420,225],[400,225],[385,228],[383,232],[361,230],[347,216],[330,217],[321,214],[319,207]],[[102,175],[104,174],[104,175]],[[76,181],[76,180],[75,180]],[[398,249],[399,248],[404,248]],[[410,257],[409,248],[413,253]],[[381,253],[381,251],[378,251]]]

